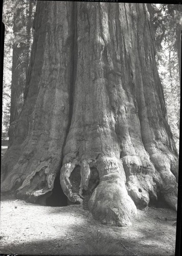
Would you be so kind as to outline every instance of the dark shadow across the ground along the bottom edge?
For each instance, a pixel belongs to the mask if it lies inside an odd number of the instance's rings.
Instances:
[[[141,238],[128,239],[113,238],[110,234],[102,231],[89,232],[81,238],[73,230],[74,236],[70,239],[49,239],[30,242],[19,242],[18,244],[6,244],[2,247],[1,253],[10,252],[18,255],[125,255],[125,256],[159,256],[170,254],[161,244],[144,244]],[[146,246],[145,250],[144,247]],[[139,250],[137,250],[138,248]],[[147,254],[146,254],[147,253]]]

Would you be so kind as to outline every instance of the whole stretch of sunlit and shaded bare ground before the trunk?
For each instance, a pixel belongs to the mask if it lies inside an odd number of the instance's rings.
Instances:
[[[132,226],[108,227],[80,205],[51,207],[1,197],[0,253],[174,255],[176,212],[147,207]]]

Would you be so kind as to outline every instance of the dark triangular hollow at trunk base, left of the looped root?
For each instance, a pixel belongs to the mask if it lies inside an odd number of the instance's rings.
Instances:
[[[47,206],[54,206],[54,207],[67,206],[67,197],[66,195],[64,195],[62,191],[59,177],[60,177],[60,172],[57,174],[55,178],[52,195],[48,197],[45,201]]]

